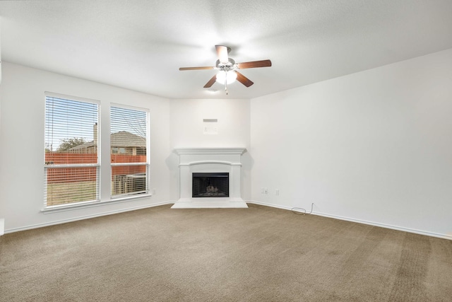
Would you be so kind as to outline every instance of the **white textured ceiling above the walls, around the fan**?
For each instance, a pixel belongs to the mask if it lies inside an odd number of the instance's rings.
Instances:
[[[452,48],[451,0],[0,1],[6,62],[166,98],[255,98]],[[214,45],[254,81],[203,88]]]

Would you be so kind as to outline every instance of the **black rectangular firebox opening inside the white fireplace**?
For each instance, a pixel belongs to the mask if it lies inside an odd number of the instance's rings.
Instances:
[[[193,173],[191,197],[229,197],[229,173]]]

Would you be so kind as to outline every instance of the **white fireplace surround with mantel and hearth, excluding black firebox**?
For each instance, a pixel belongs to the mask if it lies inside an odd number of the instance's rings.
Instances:
[[[242,199],[242,154],[245,148],[180,148],[179,200],[172,209],[247,208]],[[192,197],[193,173],[229,173],[229,197]]]

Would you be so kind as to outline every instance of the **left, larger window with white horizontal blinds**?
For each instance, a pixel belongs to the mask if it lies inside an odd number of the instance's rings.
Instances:
[[[99,104],[45,95],[44,206],[99,201]]]

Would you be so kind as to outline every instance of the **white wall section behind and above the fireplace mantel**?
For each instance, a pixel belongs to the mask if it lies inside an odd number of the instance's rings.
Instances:
[[[217,119],[218,134],[204,134],[203,120]],[[249,100],[207,99],[172,100],[171,146],[172,148],[244,147],[249,150]],[[172,187],[179,187],[178,158],[172,154]],[[249,199],[251,187],[251,157],[242,156],[242,198]],[[174,191],[173,200],[179,194]]]

